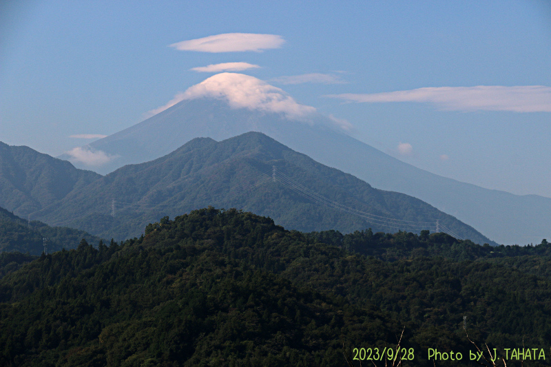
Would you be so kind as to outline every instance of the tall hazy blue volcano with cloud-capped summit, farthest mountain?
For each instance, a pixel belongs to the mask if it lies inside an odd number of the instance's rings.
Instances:
[[[196,87],[211,90],[213,85],[222,85],[222,82],[227,81],[228,75],[212,76],[190,90],[194,92],[192,89]],[[236,83],[241,80],[252,85],[260,83],[252,76],[241,74],[235,74],[230,79]],[[248,96],[255,96],[254,90],[246,90],[247,83],[238,87]],[[476,227],[499,243],[539,243],[542,238],[551,238],[551,198],[518,196],[431,174],[352,138],[337,127],[334,120],[316,112],[302,118],[289,116],[285,112],[274,112],[276,109],[270,109],[269,103],[295,103],[278,88],[269,86],[273,89],[271,92],[279,93],[277,101],[262,100],[264,105],[259,102],[252,107],[243,107],[242,101],[237,101],[233,96],[231,87],[226,83],[226,90],[221,92],[187,93],[187,98],[165,111],[91,143],[86,148],[92,153],[105,154],[111,158],[102,167],[73,162],[76,167],[93,168],[106,174],[123,165],[154,160],[169,154],[193,138],[209,137],[219,141],[256,131],[324,165],[353,174],[373,187],[406,193],[424,200]],[[297,106],[312,109],[297,103],[292,107]],[[65,154],[60,158],[72,157]]]

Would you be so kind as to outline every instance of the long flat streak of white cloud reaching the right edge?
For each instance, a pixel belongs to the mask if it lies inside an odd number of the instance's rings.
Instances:
[[[328,97],[366,103],[433,103],[449,111],[551,112],[551,87],[542,85],[426,87],[374,94],[333,94]]]

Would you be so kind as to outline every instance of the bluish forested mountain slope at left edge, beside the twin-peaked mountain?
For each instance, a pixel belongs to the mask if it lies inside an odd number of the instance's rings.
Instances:
[[[0,207],[19,216],[26,218],[100,177],[29,147],[0,142]]]

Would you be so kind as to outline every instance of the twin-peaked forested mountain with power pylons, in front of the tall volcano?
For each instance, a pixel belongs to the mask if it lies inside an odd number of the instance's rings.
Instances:
[[[32,216],[122,239],[139,235],[147,223],[163,216],[207,205],[271,216],[300,231],[371,227],[419,232],[438,226],[461,238],[495,244],[422,200],[373,189],[256,132],[220,143],[196,138],[167,156],[97,178]]]

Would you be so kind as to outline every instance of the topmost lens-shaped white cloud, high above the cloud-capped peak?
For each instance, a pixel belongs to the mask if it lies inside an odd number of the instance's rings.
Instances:
[[[170,47],[180,51],[260,52],[269,48],[280,48],[283,43],[285,40],[277,34],[225,33],[172,43]]]

